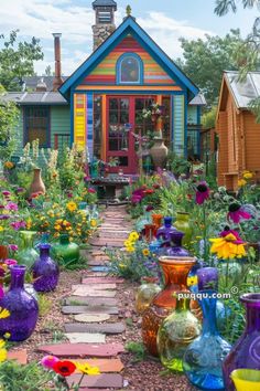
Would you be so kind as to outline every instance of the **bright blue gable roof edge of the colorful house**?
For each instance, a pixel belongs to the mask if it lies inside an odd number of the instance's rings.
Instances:
[[[108,36],[108,39],[97,47],[97,50],[63,83],[59,92],[68,99],[69,91],[80,80],[90,73],[95,66],[105,59],[105,56],[128,34],[140,42],[164,70],[177,78],[180,83],[187,88],[188,101],[198,94],[196,85],[181,71],[181,68],[167,56],[165,52],[152,40],[152,38],[136,22],[130,15],[124,18],[123,22]]]

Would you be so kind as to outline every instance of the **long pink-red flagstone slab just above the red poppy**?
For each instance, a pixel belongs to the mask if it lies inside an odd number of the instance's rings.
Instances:
[[[124,352],[122,344],[56,344],[40,346],[37,351],[57,357],[113,357]]]

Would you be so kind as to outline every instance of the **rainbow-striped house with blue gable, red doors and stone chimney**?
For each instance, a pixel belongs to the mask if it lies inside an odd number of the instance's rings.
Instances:
[[[35,138],[42,147],[77,144],[90,159],[117,159],[137,173],[134,136],[152,130],[143,109],[162,107],[164,142],[178,156],[199,157],[201,108],[194,83],[128,14],[116,29],[113,0],[93,2],[93,54],[69,76],[61,73],[61,34],[55,40],[55,77],[37,81],[33,93],[9,93],[21,107],[21,148]],[[65,81],[63,81],[65,80]],[[24,81],[32,84],[32,78]]]

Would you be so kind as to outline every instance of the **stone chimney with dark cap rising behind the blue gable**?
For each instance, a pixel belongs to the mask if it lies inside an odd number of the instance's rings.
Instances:
[[[96,12],[96,24],[93,25],[93,49],[95,51],[116,30],[117,3],[113,0],[95,0],[93,9]]]

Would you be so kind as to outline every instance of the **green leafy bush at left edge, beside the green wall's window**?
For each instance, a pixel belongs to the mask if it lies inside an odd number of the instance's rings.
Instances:
[[[0,85],[0,159],[7,160],[17,146],[19,110],[14,102],[6,102],[3,96],[4,88]]]

